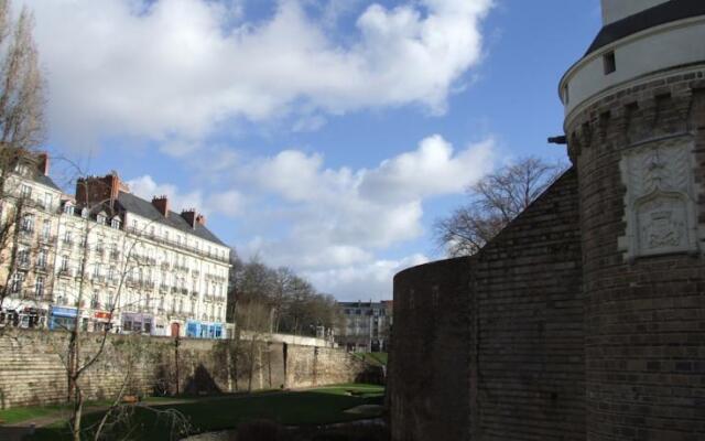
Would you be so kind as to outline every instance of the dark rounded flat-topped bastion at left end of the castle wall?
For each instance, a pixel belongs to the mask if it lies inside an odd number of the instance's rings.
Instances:
[[[469,433],[469,259],[394,278],[388,398],[394,440],[465,440]]]

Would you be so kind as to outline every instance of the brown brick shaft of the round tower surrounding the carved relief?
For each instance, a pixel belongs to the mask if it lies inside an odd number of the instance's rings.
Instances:
[[[595,103],[566,127],[582,203],[588,440],[705,439],[703,243],[694,252],[629,259],[620,239],[628,217],[620,161],[630,151],[692,137],[702,187],[704,76],[644,79]],[[679,165],[677,176],[687,176],[691,166]],[[702,230],[702,191],[695,197]]]

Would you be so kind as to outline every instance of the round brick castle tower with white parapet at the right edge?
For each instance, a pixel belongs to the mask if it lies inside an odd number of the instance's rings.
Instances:
[[[587,440],[705,439],[705,1],[603,0],[563,77]]]

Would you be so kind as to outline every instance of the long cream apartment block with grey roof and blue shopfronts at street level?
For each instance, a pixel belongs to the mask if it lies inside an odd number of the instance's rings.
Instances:
[[[225,337],[230,250],[195,209],[172,212],[166,196],[145,201],[112,172],[79,179],[75,196],[58,192],[44,217],[51,257],[44,291],[33,298],[40,319],[28,324]],[[21,315],[25,291],[9,297],[8,314]]]

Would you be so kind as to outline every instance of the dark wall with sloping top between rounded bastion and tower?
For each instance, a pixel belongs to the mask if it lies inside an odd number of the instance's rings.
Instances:
[[[476,440],[584,440],[581,237],[574,170],[476,256]]]

